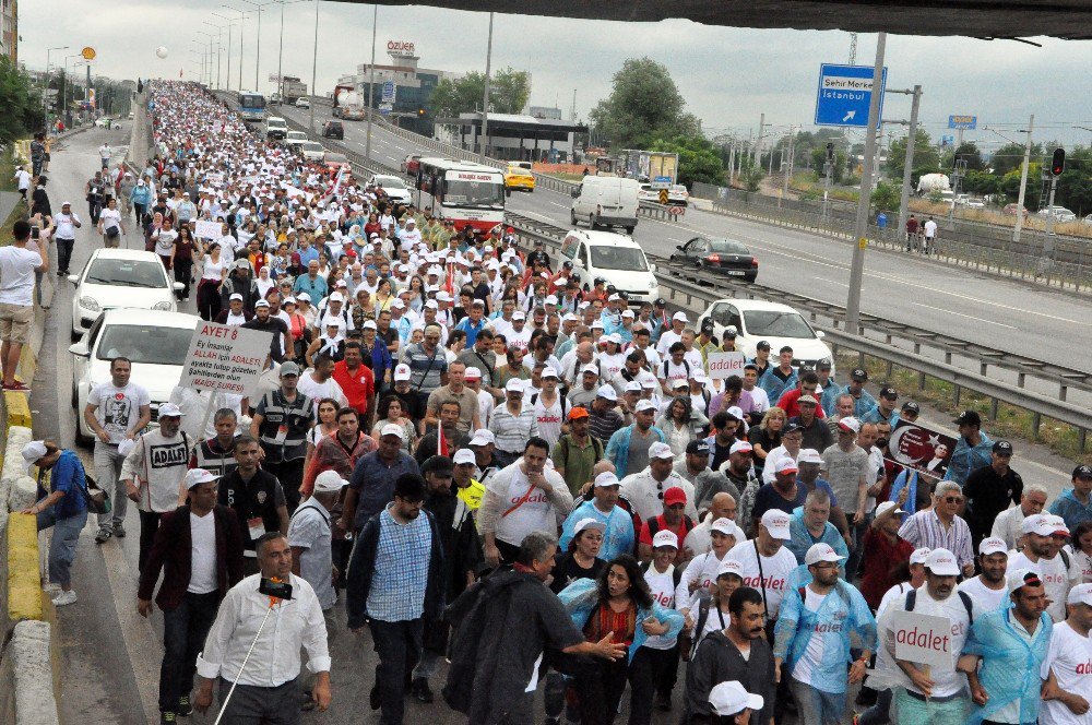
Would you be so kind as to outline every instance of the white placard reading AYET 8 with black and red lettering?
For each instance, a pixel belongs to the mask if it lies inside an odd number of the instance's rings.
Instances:
[[[258,385],[273,334],[238,325],[200,322],[178,384],[246,395]]]

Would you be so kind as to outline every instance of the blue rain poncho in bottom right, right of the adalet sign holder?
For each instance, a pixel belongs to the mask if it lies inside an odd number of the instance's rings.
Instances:
[[[1020,699],[1020,722],[1038,720],[1040,669],[1051,647],[1054,622],[1045,611],[1029,643],[1012,622],[1012,608],[1004,607],[976,619],[963,647],[964,654],[982,657],[978,682],[989,696],[985,706],[975,708],[968,725],[978,725],[1014,699]]]

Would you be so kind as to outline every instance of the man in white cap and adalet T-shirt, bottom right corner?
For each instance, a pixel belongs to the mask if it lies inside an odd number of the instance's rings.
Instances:
[[[1092,584],[1078,584],[1066,599],[1069,616],[1055,625],[1051,649],[1043,661],[1040,676],[1046,681],[1043,704],[1038,712],[1041,725],[1088,725],[1092,722]]]

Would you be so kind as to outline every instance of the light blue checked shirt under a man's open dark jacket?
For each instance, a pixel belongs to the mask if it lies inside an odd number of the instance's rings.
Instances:
[[[390,506],[379,514],[376,568],[368,590],[367,611],[381,621],[418,619],[425,609],[428,566],[432,555],[432,527],[418,514],[407,524],[391,515]]]

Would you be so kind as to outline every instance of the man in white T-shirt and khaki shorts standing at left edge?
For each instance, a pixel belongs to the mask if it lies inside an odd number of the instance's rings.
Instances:
[[[31,224],[19,219],[12,226],[14,241],[0,247],[0,361],[3,366],[3,389],[28,392],[15,380],[15,369],[31,332],[34,319],[34,273],[49,271],[46,245],[39,251],[27,249]]]

